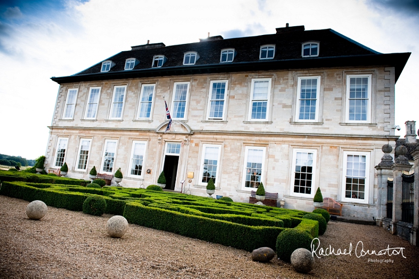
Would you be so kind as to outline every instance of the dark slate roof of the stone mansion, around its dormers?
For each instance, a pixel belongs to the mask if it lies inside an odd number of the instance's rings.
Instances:
[[[290,30],[291,32],[287,32]],[[211,72],[310,69],[323,67],[396,67],[396,80],[410,53],[381,54],[332,29],[304,31],[304,26],[278,28],[276,34],[222,39],[221,36],[201,39],[200,42],[165,46],[163,43],[132,47],[106,60],[115,63],[108,72],[101,72],[102,62],[71,76],[52,77],[58,83],[89,80],[135,78],[165,75],[184,75]],[[319,42],[318,57],[302,57],[302,43]],[[275,44],[275,57],[259,60],[260,46]],[[138,49],[140,48],[140,49]],[[237,55],[231,63],[220,63],[221,50],[234,48]],[[200,58],[195,65],[183,65],[183,54],[196,51]],[[151,68],[153,57],[164,55],[167,61],[161,68]],[[125,60],[136,58],[140,63],[133,70],[124,70]]]

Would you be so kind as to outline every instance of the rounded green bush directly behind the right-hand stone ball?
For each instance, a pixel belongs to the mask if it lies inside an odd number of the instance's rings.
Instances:
[[[291,254],[295,249],[311,250],[312,240],[313,237],[306,231],[298,229],[282,231],[277,238],[277,255],[280,260],[290,262]]]

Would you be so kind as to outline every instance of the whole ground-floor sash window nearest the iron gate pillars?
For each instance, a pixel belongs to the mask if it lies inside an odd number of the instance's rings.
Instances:
[[[344,152],[343,196],[346,200],[368,202],[368,152]]]

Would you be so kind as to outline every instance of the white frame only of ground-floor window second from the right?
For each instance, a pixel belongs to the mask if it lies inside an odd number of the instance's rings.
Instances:
[[[296,179],[295,173],[296,173],[296,165],[297,165],[297,153],[312,153],[313,154],[311,193],[310,194],[294,192],[295,179]],[[316,185],[316,174],[317,174],[317,149],[294,148],[292,151],[292,165],[291,165],[291,176],[290,176],[291,181],[290,181],[290,191],[289,191],[290,195],[294,197],[314,198],[315,191],[317,190],[317,187],[318,187]]]

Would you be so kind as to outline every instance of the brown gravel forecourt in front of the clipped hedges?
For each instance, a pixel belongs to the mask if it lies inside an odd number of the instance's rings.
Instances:
[[[308,275],[274,258],[251,260],[244,250],[173,233],[129,225],[121,239],[107,236],[111,215],[97,217],[48,207],[41,220],[30,220],[29,202],[0,195],[0,278],[418,278],[419,248],[376,226],[330,221],[320,247],[350,255],[316,259]],[[390,248],[389,256],[361,256]],[[318,251],[318,250],[317,250]],[[319,253],[317,252],[319,255]],[[315,256],[314,256],[315,257]],[[390,260],[390,262],[369,262]],[[393,262],[391,262],[393,261]]]

